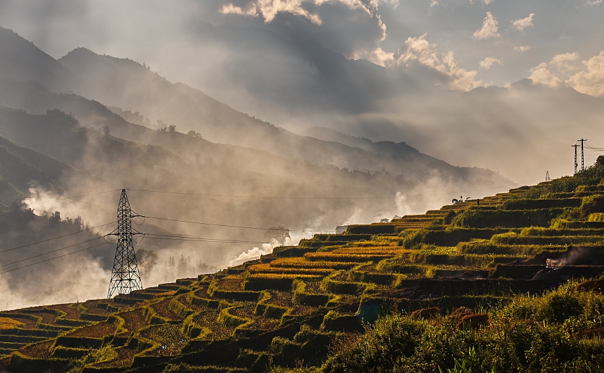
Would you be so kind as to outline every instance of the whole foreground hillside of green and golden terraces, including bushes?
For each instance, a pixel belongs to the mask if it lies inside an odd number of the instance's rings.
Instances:
[[[603,163],[127,296],[0,312],[0,367],[604,372]]]

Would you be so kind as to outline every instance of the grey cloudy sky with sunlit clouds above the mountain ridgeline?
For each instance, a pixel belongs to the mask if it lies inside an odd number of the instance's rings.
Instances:
[[[604,0],[0,0],[0,26],[57,59],[127,57],[294,132],[516,181],[572,171],[576,139],[604,147],[603,20]],[[544,86],[462,94],[525,78]]]

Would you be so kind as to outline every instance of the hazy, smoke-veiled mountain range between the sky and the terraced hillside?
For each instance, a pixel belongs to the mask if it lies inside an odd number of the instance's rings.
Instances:
[[[319,127],[296,134],[135,61],[84,48],[56,60],[7,29],[0,29],[0,172],[3,211],[25,200],[38,214],[80,215],[91,226],[115,219],[115,191],[126,188],[133,209],[151,217],[140,229],[205,240],[145,238],[138,248],[154,250],[159,264],[182,255],[216,266],[270,252],[269,227],[291,229],[296,242],[341,224],[422,212],[460,191],[478,197],[513,185],[405,142]],[[16,245],[27,241],[27,227],[2,235]],[[82,257],[100,273],[113,255]],[[52,279],[37,271],[6,281]],[[158,273],[150,281],[164,280]]]

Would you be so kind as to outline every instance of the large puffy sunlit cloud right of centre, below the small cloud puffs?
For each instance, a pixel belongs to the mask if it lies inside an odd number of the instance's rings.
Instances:
[[[420,65],[427,67],[432,73],[435,73],[435,83],[447,86],[450,89],[459,91],[469,91],[482,86],[482,80],[476,80],[476,70],[465,70],[458,66],[453,52],[448,52],[439,56],[436,45],[430,44],[425,39],[424,33],[419,38],[409,37],[405,45],[391,55],[382,56],[386,59],[385,65],[389,68],[402,68],[407,70],[413,66]]]

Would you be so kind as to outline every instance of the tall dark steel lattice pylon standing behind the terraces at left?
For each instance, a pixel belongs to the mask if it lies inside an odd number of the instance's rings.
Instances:
[[[107,234],[107,236],[117,236],[117,248],[107,298],[111,298],[116,290],[117,294],[129,294],[130,291],[142,289],[133,243],[134,235],[141,234],[132,227],[132,218],[135,216],[140,215],[133,215],[126,190],[122,189],[117,206],[117,229]]]

